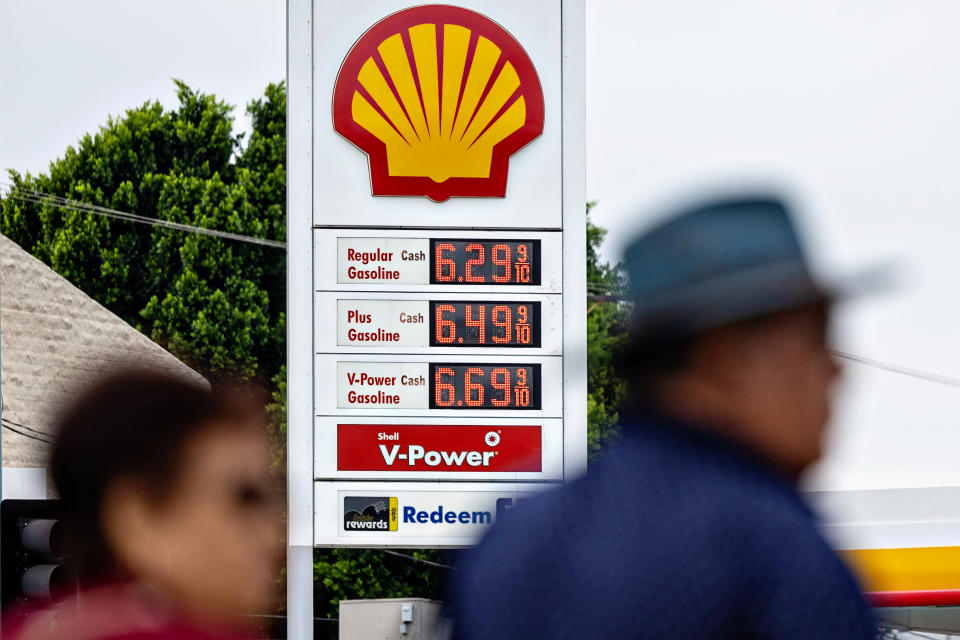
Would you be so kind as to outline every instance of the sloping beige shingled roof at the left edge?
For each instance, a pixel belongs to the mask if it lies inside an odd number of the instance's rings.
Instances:
[[[203,377],[0,235],[3,466],[46,466],[59,411],[96,375],[136,364]]]

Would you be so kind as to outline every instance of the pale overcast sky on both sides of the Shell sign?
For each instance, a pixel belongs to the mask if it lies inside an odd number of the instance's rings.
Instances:
[[[841,313],[839,346],[960,379],[960,3],[587,6],[587,195],[606,255],[690,189],[787,185],[818,268],[898,264],[895,291]],[[108,114],[174,106],[174,77],[239,116],[284,75],[279,0],[0,7],[0,168],[42,171]],[[814,486],[960,486],[960,388],[848,373]]]

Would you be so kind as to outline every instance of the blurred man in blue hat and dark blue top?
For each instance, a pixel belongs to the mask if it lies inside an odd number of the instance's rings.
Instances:
[[[811,274],[787,203],[686,207],[624,264],[622,438],[465,556],[457,637],[875,637],[796,488],[821,455],[844,292]]]

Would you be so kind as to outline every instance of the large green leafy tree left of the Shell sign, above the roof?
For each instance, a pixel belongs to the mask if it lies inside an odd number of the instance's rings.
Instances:
[[[248,106],[253,131],[244,146],[230,105],[176,84],[178,108],[145,103],[85,135],[47,173],[11,172],[0,228],[188,364],[270,379],[284,359],[281,249],[9,197],[54,194],[283,240],[283,85]]]

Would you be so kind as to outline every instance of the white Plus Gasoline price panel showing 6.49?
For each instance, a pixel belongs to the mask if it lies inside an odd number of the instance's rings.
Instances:
[[[560,355],[561,296],[316,293],[317,353]]]

